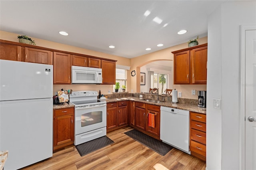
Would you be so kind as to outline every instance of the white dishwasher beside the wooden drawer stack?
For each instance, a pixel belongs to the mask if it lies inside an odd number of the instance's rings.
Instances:
[[[160,139],[190,154],[189,111],[163,106],[160,111]]]

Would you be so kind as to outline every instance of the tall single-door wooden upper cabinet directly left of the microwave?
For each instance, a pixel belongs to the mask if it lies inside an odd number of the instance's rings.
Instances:
[[[71,83],[70,54],[54,52],[53,54],[53,83]]]

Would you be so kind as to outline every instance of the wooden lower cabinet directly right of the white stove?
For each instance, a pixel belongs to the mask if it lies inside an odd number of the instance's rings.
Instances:
[[[107,132],[128,125],[129,101],[107,103]]]

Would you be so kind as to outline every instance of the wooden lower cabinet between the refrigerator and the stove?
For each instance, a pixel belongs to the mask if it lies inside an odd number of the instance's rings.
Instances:
[[[53,111],[53,151],[74,142],[74,107]]]

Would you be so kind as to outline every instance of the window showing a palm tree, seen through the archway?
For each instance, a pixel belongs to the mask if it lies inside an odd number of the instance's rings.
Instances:
[[[167,74],[154,73],[154,88],[158,88],[158,93],[163,93],[167,89]]]

